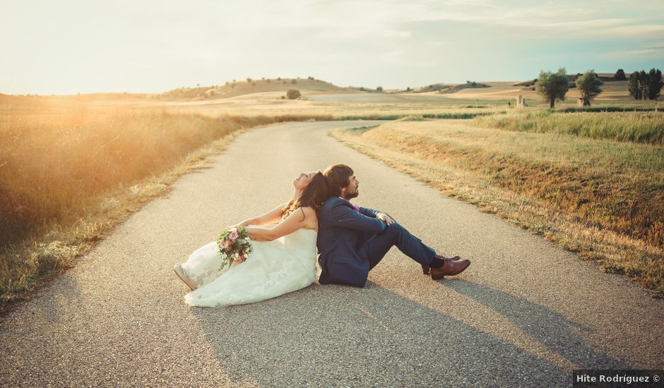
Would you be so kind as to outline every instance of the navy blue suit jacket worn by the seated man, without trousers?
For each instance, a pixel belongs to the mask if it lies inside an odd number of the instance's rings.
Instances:
[[[360,207],[357,212],[350,202],[339,197],[328,198],[318,215],[318,240],[321,253],[320,284],[364,286],[369,276],[369,260],[358,251],[369,238],[386,227],[376,218],[377,210]]]

